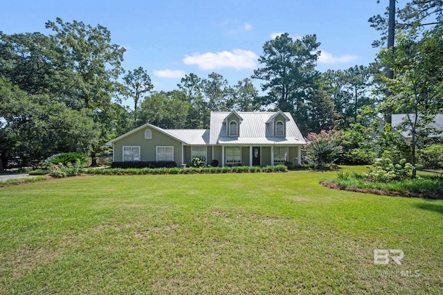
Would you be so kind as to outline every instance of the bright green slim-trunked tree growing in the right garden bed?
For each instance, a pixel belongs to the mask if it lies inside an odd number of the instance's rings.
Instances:
[[[443,110],[442,35],[441,26],[424,34],[410,30],[399,35],[395,52],[382,49],[379,53],[380,59],[389,63],[395,73],[394,79],[385,80],[392,95],[381,105],[381,110],[406,114],[397,129],[410,133],[412,137],[410,152],[413,166],[417,143],[437,132],[429,124]]]

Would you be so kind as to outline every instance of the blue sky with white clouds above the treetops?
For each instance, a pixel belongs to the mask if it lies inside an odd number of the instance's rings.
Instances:
[[[50,33],[44,24],[56,17],[100,24],[111,31],[112,43],[127,48],[126,70],[143,66],[155,90],[168,91],[189,73],[207,78],[215,71],[230,84],[250,77],[259,67],[264,42],[278,33],[295,38],[316,34],[322,51],[319,71],[367,65],[377,53],[371,43],[379,37],[368,19],[385,11],[388,0],[381,2],[10,0],[1,4],[0,30]]]

